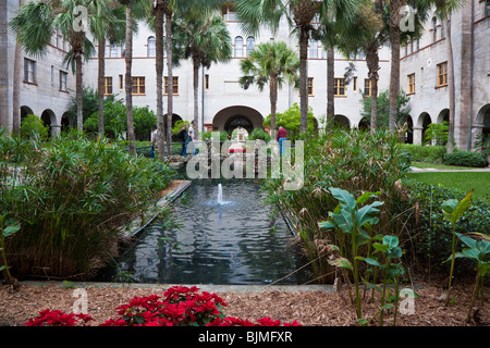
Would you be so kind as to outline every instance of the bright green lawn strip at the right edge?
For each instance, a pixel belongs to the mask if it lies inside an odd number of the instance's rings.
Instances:
[[[490,172],[411,173],[408,178],[434,186],[441,184],[444,187],[456,188],[464,192],[474,188],[474,198],[490,203]]]

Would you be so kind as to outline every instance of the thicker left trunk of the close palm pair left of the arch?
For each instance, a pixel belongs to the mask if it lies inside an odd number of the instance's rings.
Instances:
[[[164,156],[164,120],[163,120],[163,8],[157,1],[155,8],[155,36],[157,70],[157,146],[159,158]]]

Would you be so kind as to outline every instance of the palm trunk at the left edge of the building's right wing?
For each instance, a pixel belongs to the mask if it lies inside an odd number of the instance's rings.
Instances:
[[[404,0],[392,0],[390,2],[390,23],[391,23],[391,74],[390,74],[390,113],[389,128],[395,129],[396,102],[400,89],[400,9]]]

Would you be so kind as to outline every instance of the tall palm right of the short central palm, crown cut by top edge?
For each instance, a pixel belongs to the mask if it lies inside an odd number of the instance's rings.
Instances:
[[[260,25],[269,26],[273,32],[279,28],[280,20],[285,16],[299,42],[299,95],[301,122],[299,129],[305,133],[308,128],[308,42],[315,27],[314,17],[322,8],[338,9],[348,16],[355,9],[357,0],[291,0],[284,3],[281,0],[236,0],[235,5],[238,17],[246,33],[256,34]]]

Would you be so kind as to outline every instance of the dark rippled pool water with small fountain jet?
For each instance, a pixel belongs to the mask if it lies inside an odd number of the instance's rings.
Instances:
[[[137,283],[264,285],[297,270],[305,261],[293,234],[259,190],[253,179],[193,181],[170,219],[146,227],[118,261],[120,274]],[[306,269],[277,284],[307,282]]]

